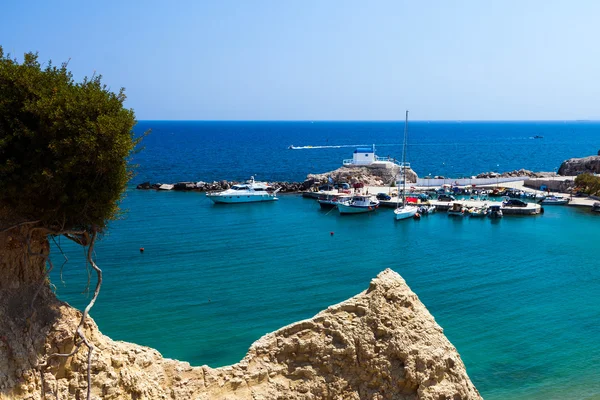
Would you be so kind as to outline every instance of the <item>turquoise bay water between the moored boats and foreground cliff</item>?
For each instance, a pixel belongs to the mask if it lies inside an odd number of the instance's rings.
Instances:
[[[123,208],[97,246],[104,286],[91,312],[113,339],[192,365],[234,363],[263,334],[365,290],[390,267],[484,398],[600,398],[600,216],[587,210],[396,222],[389,209],[342,217],[297,195],[217,206],[201,193],[136,190]],[[81,308],[82,250],[65,242],[65,283],[60,263],[52,281]]]

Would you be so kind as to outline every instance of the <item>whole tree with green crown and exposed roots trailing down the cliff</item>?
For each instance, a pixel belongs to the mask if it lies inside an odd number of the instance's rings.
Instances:
[[[48,282],[48,236],[64,235],[87,246],[98,278],[73,350],[46,354],[38,365],[42,397],[50,360],[70,357],[85,345],[90,398],[94,348],[83,325],[102,284],[93,248],[97,235],[119,214],[118,201],[132,176],[128,158],[139,141],[132,130],[133,110],[123,106],[124,89],[113,93],[101,79],[78,83],[66,63],[42,67],[34,53],[19,63],[0,47],[0,337],[19,340],[36,321],[45,326],[34,304],[40,297],[55,300]],[[30,301],[19,300],[26,296]]]

